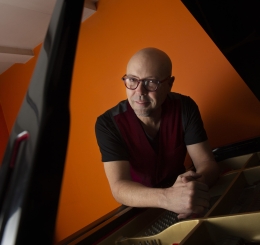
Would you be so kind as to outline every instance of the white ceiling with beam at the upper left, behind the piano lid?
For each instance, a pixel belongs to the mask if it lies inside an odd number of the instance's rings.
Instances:
[[[76,1],[76,0],[75,0]],[[96,11],[98,0],[85,0],[82,21]],[[0,74],[26,63],[43,42],[56,0],[0,0]]]

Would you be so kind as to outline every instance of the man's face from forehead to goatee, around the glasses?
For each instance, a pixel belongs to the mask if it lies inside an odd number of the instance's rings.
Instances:
[[[139,79],[153,78],[161,81],[171,74],[164,74],[162,65],[158,61],[147,60],[139,57],[129,62],[127,75]],[[147,91],[140,83],[135,90],[126,89],[129,104],[138,117],[153,117],[161,112],[161,105],[164,102],[171,86],[169,81],[159,84],[154,92]]]

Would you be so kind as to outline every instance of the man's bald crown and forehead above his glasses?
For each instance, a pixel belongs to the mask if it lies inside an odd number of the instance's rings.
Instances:
[[[136,74],[135,74],[136,73]],[[145,48],[135,53],[127,64],[127,74],[134,76],[154,76],[163,79],[172,73],[169,56],[156,48]],[[140,78],[144,78],[140,77]]]

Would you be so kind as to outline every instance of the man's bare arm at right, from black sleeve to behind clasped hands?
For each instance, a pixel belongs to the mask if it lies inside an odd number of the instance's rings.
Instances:
[[[188,153],[196,168],[196,173],[202,175],[198,180],[212,186],[219,177],[219,166],[212,154],[208,141],[188,145]]]

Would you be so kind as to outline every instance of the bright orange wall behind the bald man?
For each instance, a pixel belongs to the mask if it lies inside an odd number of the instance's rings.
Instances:
[[[125,65],[148,46],[170,55],[173,91],[197,102],[212,147],[260,134],[259,101],[179,0],[99,0],[98,11],[82,24],[78,43],[57,241],[119,205],[110,194],[94,124],[98,115],[125,99],[120,80]],[[0,91],[7,91],[0,92],[0,101],[8,129],[33,62],[0,75]],[[14,94],[17,99],[11,100]]]

